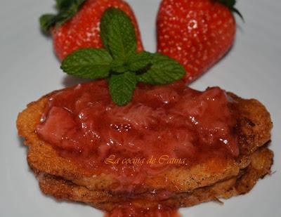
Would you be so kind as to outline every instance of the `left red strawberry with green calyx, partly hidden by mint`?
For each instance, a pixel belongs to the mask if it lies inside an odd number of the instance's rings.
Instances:
[[[143,51],[141,34],[129,4],[122,0],[56,0],[58,15],[43,15],[41,28],[51,30],[55,53],[60,60],[78,48],[100,48],[100,18],[110,7],[124,11],[136,28],[137,51]]]

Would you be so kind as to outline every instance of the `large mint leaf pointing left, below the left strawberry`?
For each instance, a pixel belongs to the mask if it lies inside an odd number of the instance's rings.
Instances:
[[[61,69],[85,79],[102,79],[110,74],[112,57],[102,48],[81,48],[63,60]]]

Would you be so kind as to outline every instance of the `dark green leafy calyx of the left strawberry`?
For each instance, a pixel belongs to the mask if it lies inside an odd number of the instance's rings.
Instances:
[[[40,17],[40,26],[43,32],[48,33],[53,26],[60,26],[70,20],[86,0],[55,0],[58,14],[44,14]]]

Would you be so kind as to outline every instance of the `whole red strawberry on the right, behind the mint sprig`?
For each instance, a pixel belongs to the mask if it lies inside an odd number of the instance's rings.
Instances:
[[[157,51],[178,60],[186,83],[197,79],[233,44],[235,0],[163,0],[157,17]]]

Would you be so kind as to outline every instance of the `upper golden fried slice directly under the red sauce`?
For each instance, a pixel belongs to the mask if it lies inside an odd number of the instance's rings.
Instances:
[[[18,116],[18,133],[25,138],[25,144],[29,147],[28,163],[37,171],[63,177],[77,185],[86,186],[90,190],[110,188],[115,184],[115,180],[110,175],[96,176],[75,162],[59,157],[51,144],[41,140],[35,132],[35,126],[39,123],[47,100],[53,94],[30,103],[27,109]],[[172,169],[165,174],[148,178],[145,183],[151,189],[168,188],[168,190],[178,190],[179,192],[188,191],[237,176],[240,169],[249,164],[247,156],[270,140],[272,123],[266,108],[257,100],[243,100],[233,93],[229,93],[229,95],[237,102],[233,105],[233,110],[237,114],[236,133],[239,136],[240,159],[235,161],[230,158],[216,157],[215,159],[214,157],[200,165],[192,166],[188,170]],[[244,162],[245,165],[240,162]],[[166,180],[164,185],[163,180]]]

